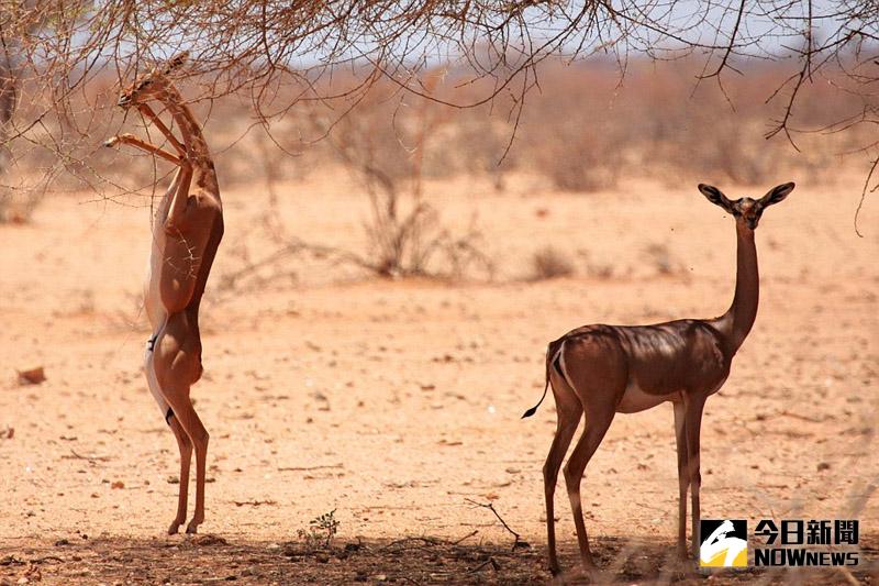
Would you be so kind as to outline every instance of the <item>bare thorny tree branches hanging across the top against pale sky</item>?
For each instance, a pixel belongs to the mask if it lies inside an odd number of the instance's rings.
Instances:
[[[380,77],[424,95],[419,74],[437,63],[461,71],[460,85],[491,81],[476,99],[448,99],[454,106],[504,92],[521,109],[549,56],[599,54],[624,70],[634,56],[696,54],[701,82],[721,89],[745,60],[781,60],[789,77],[767,88],[778,103],[769,135],[793,142],[798,96],[831,70],[831,82],[865,96],[837,128],[879,121],[877,41],[879,4],[854,0],[0,0],[0,144],[24,140],[64,156],[91,129],[77,93],[183,49],[197,99],[244,93],[263,121],[301,100],[356,100]],[[369,75],[332,90],[320,84],[355,66]],[[16,101],[26,108],[12,117]]]

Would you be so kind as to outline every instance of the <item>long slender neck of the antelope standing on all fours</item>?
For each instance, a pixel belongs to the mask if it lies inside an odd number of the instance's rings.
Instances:
[[[719,327],[725,334],[733,354],[747,338],[757,318],[760,298],[760,277],[757,270],[757,247],[754,231],[744,221],[736,222],[736,275],[733,305],[721,318]]]

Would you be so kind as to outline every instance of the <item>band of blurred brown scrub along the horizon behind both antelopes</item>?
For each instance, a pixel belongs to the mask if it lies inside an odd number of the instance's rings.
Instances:
[[[783,136],[766,141],[768,122],[779,111],[777,104],[764,102],[782,66],[742,66],[746,75],[725,79],[724,96],[711,80],[696,87],[699,65],[697,59],[664,65],[631,60],[621,78],[615,64],[600,59],[569,66],[545,62],[539,68],[539,89],[527,95],[521,119],[514,96],[504,93],[477,108],[454,109],[401,92],[385,79],[375,81],[369,96],[353,110],[351,102],[343,103],[344,98],[319,106],[302,103],[269,122],[255,120],[252,104],[237,95],[193,108],[199,120],[205,121],[224,186],[249,184],[266,173],[277,180],[296,179],[311,168],[337,162],[340,145],[365,148],[358,155],[359,167],[368,164],[398,190],[410,192],[419,189],[416,184],[423,178],[460,175],[487,175],[502,189],[511,169],[537,173],[548,185],[577,192],[613,188],[624,175],[658,177],[676,185],[703,179],[763,185],[782,169],[810,180],[823,179],[822,174],[838,167],[838,153],[871,142],[864,125],[830,135],[795,135],[801,152]],[[351,76],[366,74],[347,75],[340,73],[315,85],[321,93],[333,93],[335,85],[351,85]],[[425,76],[423,89],[443,100],[467,103],[485,93],[488,82],[464,81],[460,71],[438,71]],[[190,80],[181,89],[192,96],[198,87],[197,80]],[[53,150],[45,141],[19,141],[12,159],[16,174],[48,175],[53,189],[71,191],[149,189],[166,175],[164,163],[154,170],[147,163],[151,159],[133,150],[113,152],[99,146],[122,123],[123,113],[111,106],[115,92],[116,80],[103,74],[81,96],[70,98],[67,117],[46,117],[47,132],[63,135],[66,142]],[[283,93],[275,98],[286,99]],[[846,112],[875,107],[870,100],[833,82],[813,85],[798,101],[795,121],[800,128],[821,128]],[[314,108],[322,108],[325,118],[316,132]],[[27,102],[16,117],[35,113]],[[132,114],[125,130],[146,136],[138,126]],[[357,136],[346,134],[352,128]],[[338,143],[335,147],[322,140],[331,129],[331,137]],[[155,132],[151,136],[157,139]],[[135,164],[122,164],[132,156],[138,157]]]

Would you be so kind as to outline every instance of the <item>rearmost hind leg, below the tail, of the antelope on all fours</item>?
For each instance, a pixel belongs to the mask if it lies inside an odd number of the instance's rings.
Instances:
[[[559,390],[556,391],[556,388]],[[556,396],[558,423],[556,435],[553,438],[553,445],[549,447],[549,454],[546,456],[546,463],[543,466],[543,484],[546,495],[546,539],[549,549],[549,571],[553,575],[557,575],[560,568],[556,556],[554,501],[556,480],[558,479],[558,471],[561,468],[561,462],[565,460],[565,453],[568,451],[574,433],[577,431],[577,424],[580,422],[583,408],[572,389],[564,382],[553,380],[553,394]]]

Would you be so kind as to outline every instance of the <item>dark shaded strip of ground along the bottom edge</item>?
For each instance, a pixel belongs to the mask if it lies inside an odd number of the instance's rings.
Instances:
[[[247,542],[211,535],[163,539],[71,537],[54,543],[22,540],[0,546],[0,585],[25,584],[586,584],[577,573],[576,542],[561,544],[566,574],[546,570],[543,548],[526,544],[458,542],[431,537],[355,540],[331,546],[301,541]],[[470,543],[465,543],[470,541]],[[850,573],[806,568],[797,572],[685,571],[671,541],[623,538],[596,540],[599,583],[622,584],[879,584],[879,540],[863,543],[861,562]],[[22,578],[27,578],[23,582]],[[855,582],[857,581],[857,582]]]

